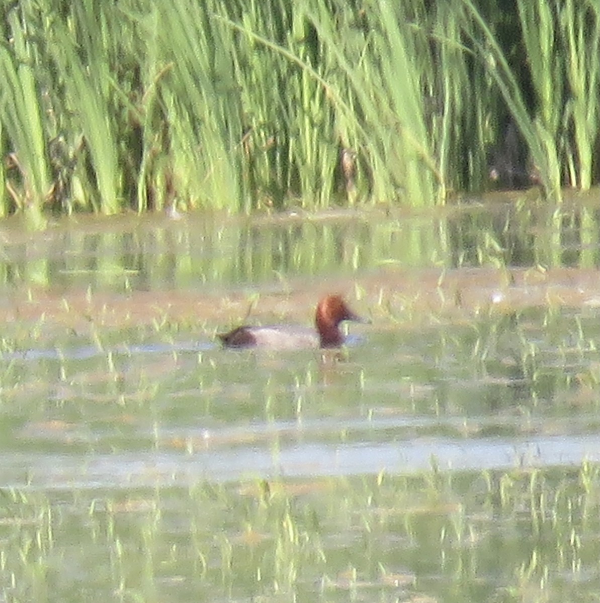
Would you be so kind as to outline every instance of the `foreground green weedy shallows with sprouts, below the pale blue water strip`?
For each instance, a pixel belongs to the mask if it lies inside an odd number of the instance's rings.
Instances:
[[[590,463],[0,494],[0,592],[14,603],[554,602],[595,593]]]

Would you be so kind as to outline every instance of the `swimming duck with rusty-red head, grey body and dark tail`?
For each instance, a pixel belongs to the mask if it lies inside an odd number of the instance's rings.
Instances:
[[[313,329],[287,325],[242,326],[217,336],[225,347],[258,346],[272,349],[340,347],[344,342],[344,336],[339,324],[344,320],[365,322],[348,308],[341,295],[327,295],[317,305],[314,317],[316,332]]]

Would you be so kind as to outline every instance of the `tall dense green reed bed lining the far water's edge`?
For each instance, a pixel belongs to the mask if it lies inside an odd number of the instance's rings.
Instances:
[[[523,150],[500,172],[535,173],[551,200],[589,189],[598,3],[511,7],[7,4],[0,214],[432,205],[485,188],[511,127]]]

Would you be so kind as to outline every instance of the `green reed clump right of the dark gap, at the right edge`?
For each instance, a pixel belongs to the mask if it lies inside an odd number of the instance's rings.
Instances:
[[[538,172],[546,197],[554,201],[561,201],[564,183],[583,190],[592,184],[591,153],[600,118],[600,14],[592,4],[516,1],[529,92],[509,49],[475,5],[464,0],[476,24],[467,34],[526,140],[529,169]]]

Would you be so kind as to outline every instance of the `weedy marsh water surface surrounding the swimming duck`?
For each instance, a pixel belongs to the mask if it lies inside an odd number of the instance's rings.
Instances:
[[[518,200],[6,226],[0,601],[589,601],[599,232]],[[343,352],[214,343],[325,291],[372,319]]]

